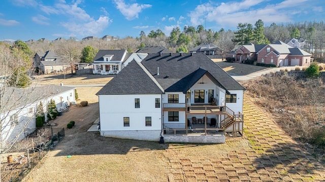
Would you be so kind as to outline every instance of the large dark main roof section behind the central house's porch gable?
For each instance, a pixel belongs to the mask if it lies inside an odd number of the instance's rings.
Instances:
[[[157,79],[164,89],[170,88],[177,83],[177,79],[178,81],[184,79],[199,68],[209,72],[220,83],[220,86],[227,90],[245,89],[203,53],[186,53],[182,54],[182,56],[180,54],[162,54],[161,56],[159,54],[149,54],[141,64]],[[159,67],[159,75],[157,75],[157,67]],[[174,83],[170,79],[173,79]],[[176,85],[173,85],[172,88],[175,90],[184,89],[181,84],[179,84],[179,88]]]

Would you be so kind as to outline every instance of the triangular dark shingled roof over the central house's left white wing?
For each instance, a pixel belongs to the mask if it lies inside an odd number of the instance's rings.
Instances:
[[[97,95],[163,93],[163,88],[143,65],[133,60],[99,90]]]

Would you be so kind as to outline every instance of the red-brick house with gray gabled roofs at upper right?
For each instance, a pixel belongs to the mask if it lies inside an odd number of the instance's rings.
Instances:
[[[293,48],[290,45],[277,41],[270,44],[245,44],[231,54],[235,62],[256,60],[257,63],[273,64],[278,66],[309,66],[311,54]]]

